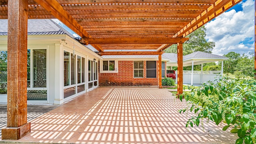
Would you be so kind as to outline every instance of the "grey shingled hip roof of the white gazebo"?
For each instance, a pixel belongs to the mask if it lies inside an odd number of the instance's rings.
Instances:
[[[170,61],[167,62],[167,66],[177,66],[177,54],[174,53],[164,53],[164,57],[170,58]],[[208,62],[217,62],[222,60],[227,60],[227,57],[218,56],[216,54],[209,54],[206,52],[193,52],[186,56],[183,56],[183,66],[192,66],[192,61],[194,65],[204,64]]]

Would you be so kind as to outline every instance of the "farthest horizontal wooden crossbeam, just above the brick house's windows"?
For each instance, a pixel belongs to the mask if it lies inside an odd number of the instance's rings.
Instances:
[[[153,52],[150,52],[150,51],[144,51],[144,52],[138,52],[138,51],[135,51],[135,52],[130,52],[130,51],[118,51],[118,52],[99,52],[98,54],[100,56],[103,56],[103,55],[159,55],[159,54],[163,54],[164,52],[156,52],[156,51],[153,51]]]

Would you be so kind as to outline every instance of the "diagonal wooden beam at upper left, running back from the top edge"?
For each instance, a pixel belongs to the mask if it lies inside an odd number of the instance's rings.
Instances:
[[[81,37],[90,37],[89,34],[82,28],[78,22],[72,18],[70,14],[56,1],[56,0],[34,0],[36,3],[40,4],[45,10],[50,14],[58,18],[63,24],[68,26],[76,34]]]

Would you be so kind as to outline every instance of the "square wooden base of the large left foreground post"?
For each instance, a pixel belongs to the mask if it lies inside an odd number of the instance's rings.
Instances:
[[[18,128],[3,128],[2,140],[18,140],[26,134],[30,133],[30,122],[18,127]]]

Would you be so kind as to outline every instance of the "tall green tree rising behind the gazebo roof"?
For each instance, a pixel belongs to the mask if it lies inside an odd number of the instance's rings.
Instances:
[[[198,28],[186,37],[189,38],[189,40],[184,42],[183,44],[183,55],[191,54],[192,52],[196,51],[212,53],[212,49],[214,48],[215,43],[207,42],[207,40],[205,39],[205,26]],[[177,45],[173,44],[164,51],[169,53],[177,53]]]

